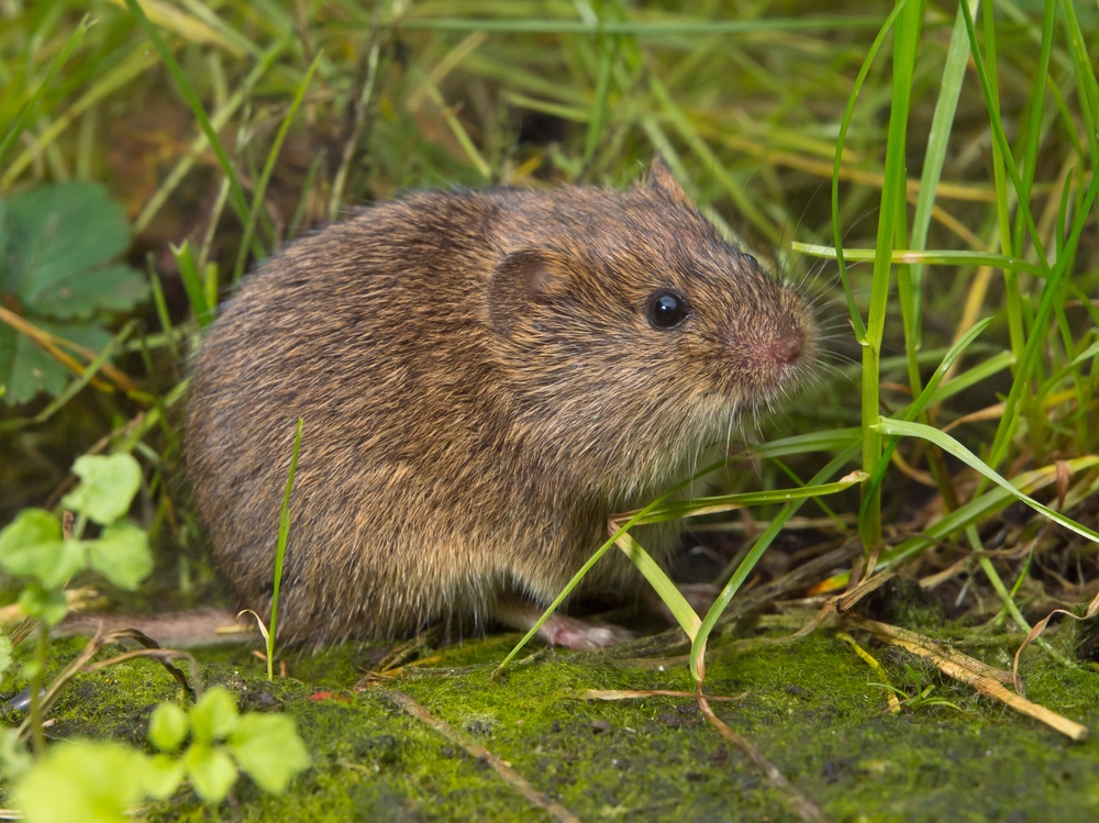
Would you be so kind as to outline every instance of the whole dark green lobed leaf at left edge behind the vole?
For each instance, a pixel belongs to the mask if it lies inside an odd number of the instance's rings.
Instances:
[[[130,226],[93,182],[37,186],[0,199],[0,386],[9,404],[64,389],[71,351],[103,349],[107,315],[145,300],[148,283],[114,262]],[[32,340],[29,333],[35,336]]]

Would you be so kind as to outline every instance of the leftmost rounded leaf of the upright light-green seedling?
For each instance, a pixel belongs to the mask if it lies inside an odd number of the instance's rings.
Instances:
[[[60,522],[44,509],[24,509],[0,531],[0,566],[46,588],[62,586],[86,565],[84,546],[63,540]]]

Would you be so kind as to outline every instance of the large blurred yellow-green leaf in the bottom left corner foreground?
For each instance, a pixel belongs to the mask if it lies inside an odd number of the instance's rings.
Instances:
[[[27,823],[130,823],[143,759],[118,743],[58,743],[15,783],[11,804]]]

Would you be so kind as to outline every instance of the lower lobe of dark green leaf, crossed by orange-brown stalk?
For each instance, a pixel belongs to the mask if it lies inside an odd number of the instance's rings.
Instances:
[[[34,325],[91,352],[99,352],[111,342],[111,335],[98,325],[63,325],[40,320],[34,320]],[[4,400],[9,405],[33,400],[42,391],[57,394],[73,377],[70,368],[37,343],[0,323],[0,386],[8,389]]]

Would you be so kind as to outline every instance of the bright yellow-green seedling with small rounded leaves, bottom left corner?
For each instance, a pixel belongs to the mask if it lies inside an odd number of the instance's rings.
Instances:
[[[147,536],[125,520],[141,467],[130,455],[80,457],[73,467],[80,485],[63,500],[76,514],[70,529],[55,513],[25,509],[0,531],[0,568],[29,578],[19,598],[38,620],[34,658],[24,666],[30,681],[33,764],[18,732],[0,743],[0,769],[15,781],[12,799],[27,821],[124,821],[127,810],[173,794],[185,779],[206,801],[220,802],[244,771],[266,791],[279,792],[309,765],[293,721],[277,714],[240,714],[232,696],[211,689],[189,712],[163,703],[153,713],[148,756],[115,742],[67,741],[43,754],[42,675],[49,627],[68,610],[65,585],[85,569],[115,586],[135,589],[153,568]],[[89,521],[99,536],[85,538]],[[11,643],[0,643],[0,671],[11,665]],[[52,689],[53,691],[53,689]],[[185,747],[184,744],[189,741]]]

